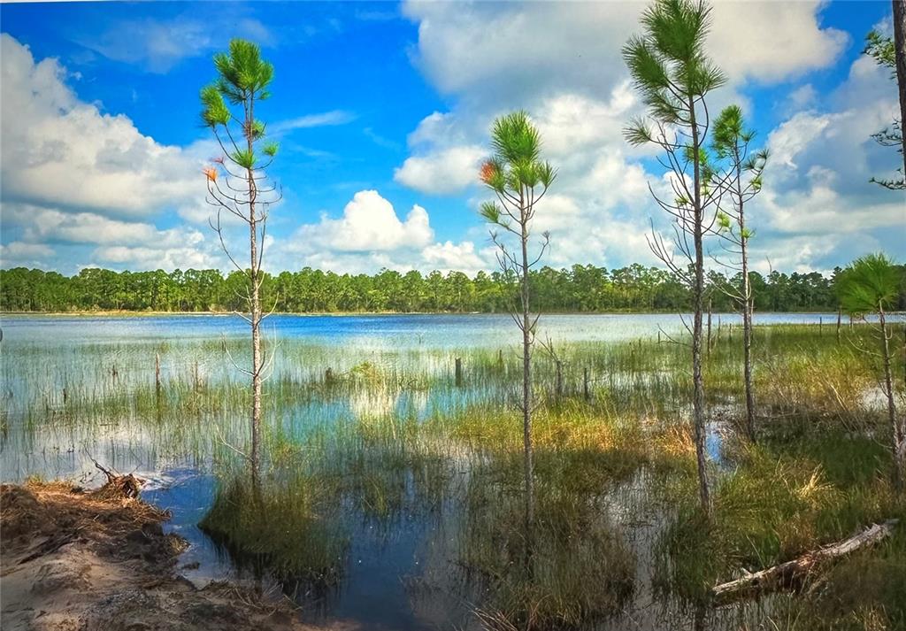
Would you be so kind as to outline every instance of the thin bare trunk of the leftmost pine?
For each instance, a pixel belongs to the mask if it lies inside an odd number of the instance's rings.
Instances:
[[[246,112],[246,142],[249,153],[253,150],[253,126],[255,123],[255,102],[250,101]],[[260,270],[258,269],[258,222],[255,217],[255,199],[257,186],[255,174],[251,168],[246,172],[248,181],[248,234],[249,253],[251,255],[251,268],[249,270],[249,302],[251,307],[252,325],[252,451],[249,456],[252,467],[252,483],[255,490],[261,480],[261,300],[258,294],[260,288]],[[264,245],[264,244],[262,244]]]

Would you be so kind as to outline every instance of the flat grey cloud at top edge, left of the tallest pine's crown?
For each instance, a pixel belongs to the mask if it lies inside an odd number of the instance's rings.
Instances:
[[[408,2],[419,24],[415,61],[442,92],[519,101],[545,88],[604,88],[621,71],[610,63],[641,5],[611,3]],[[530,45],[526,45],[530,43]]]

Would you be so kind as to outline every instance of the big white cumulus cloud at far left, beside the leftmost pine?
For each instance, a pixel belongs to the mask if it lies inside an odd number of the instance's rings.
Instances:
[[[60,63],[35,61],[8,34],[0,58],[0,263],[72,269],[74,255],[133,268],[223,265],[197,228],[155,225],[173,210],[199,214],[205,143],[162,145],[126,116],[80,101]]]

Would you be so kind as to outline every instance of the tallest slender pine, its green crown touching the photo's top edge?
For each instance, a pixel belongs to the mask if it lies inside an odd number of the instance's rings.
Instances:
[[[705,384],[701,376],[703,315],[706,310],[704,239],[712,233],[720,195],[709,188],[720,180],[719,167],[710,164],[706,147],[710,126],[706,96],[727,76],[705,50],[710,29],[710,6],[689,0],[657,0],[641,15],[642,33],[623,46],[633,87],[645,103],[645,115],[631,122],[626,140],[634,146],[651,144],[670,180],[671,195],[651,189],[660,209],[670,218],[673,235],[665,240],[652,228],[649,244],[654,255],[676,274],[692,295],[691,368],[692,433],[699,469],[701,510],[710,513],[705,455]]]

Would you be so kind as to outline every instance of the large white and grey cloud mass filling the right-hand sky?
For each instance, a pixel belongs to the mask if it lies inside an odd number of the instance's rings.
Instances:
[[[716,3],[708,48],[729,82],[710,95],[711,112],[737,102],[751,115],[748,86],[832,66],[849,36],[821,24],[823,6],[820,0]],[[525,108],[541,131],[545,158],[559,170],[535,218],[536,231],[552,233],[545,262],[653,261],[645,235],[649,218],[658,225],[664,213],[648,187],[651,182],[660,191],[665,182],[643,166],[652,164],[641,161],[651,158],[651,150],[630,148],[622,137],[627,121],[641,113],[641,103],[628,82],[621,47],[640,30],[643,8],[642,3],[406,3],[404,15],[419,24],[415,63],[456,102],[412,131],[411,157],[397,181],[419,190],[429,190],[436,180],[444,192],[466,189],[474,178],[465,177],[462,165],[453,169],[448,156],[466,149],[477,156],[483,146],[487,153],[496,115]],[[807,83],[777,108],[788,112],[788,120],[773,133],[759,134],[773,152],[765,192],[753,207],[759,238],[800,248],[807,234],[845,248],[870,242],[867,231],[902,221],[896,211],[901,199],[874,199],[882,191],[864,192],[880,155],[870,134],[883,127],[882,120],[892,120],[894,92],[877,83],[876,71],[871,60],[853,63],[850,87],[838,91],[834,102],[825,94],[824,111],[805,109],[819,102]],[[400,178],[407,168],[420,177]],[[447,177],[432,169],[445,170]],[[853,196],[857,189],[863,192]],[[834,228],[841,222],[852,235],[845,243],[828,237],[842,229]],[[801,249],[803,259],[777,258],[801,267],[834,256],[833,247],[824,245]]]

